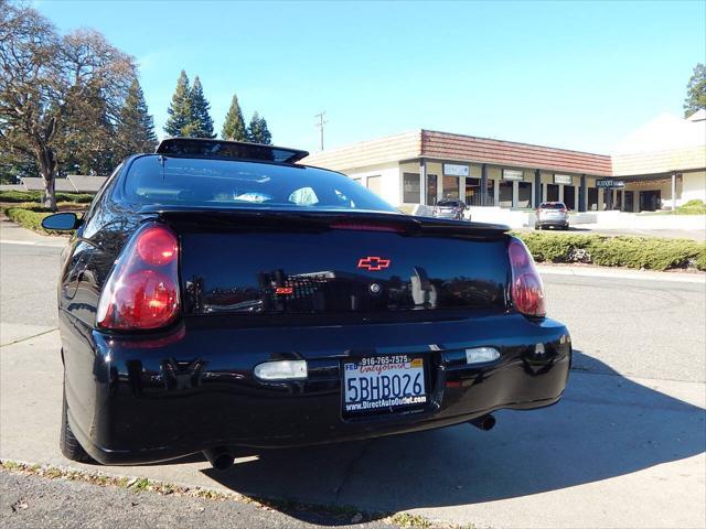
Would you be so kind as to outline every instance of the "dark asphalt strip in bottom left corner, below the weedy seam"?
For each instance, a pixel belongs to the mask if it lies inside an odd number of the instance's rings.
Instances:
[[[0,472],[0,526],[4,529],[313,529],[322,527],[322,521],[352,527],[345,521],[362,516],[351,512],[343,518],[322,518],[318,514],[297,511],[299,518],[296,518],[253,503],[160,496],[7,472]],[[389,529],[391,525],[373,521],[355,527]]]

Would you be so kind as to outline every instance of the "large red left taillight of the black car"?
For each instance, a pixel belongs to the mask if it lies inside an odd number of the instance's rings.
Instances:
[[[179,241],[168,227],[149,224],[128,242],[98,302],[103,328],[160,328],[179,316]]]

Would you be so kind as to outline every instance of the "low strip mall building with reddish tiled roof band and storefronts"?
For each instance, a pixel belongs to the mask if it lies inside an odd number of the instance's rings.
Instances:
[[[611,155],[416,130],[309,155],[397,206],[460,198],[471,206],[655,210],[706,202],[706,111],[663,115]]]

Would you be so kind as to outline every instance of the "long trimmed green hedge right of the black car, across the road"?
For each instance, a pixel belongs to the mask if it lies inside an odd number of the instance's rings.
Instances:
[[[706,242],[657,237],[516,233],[537,262],[590,263],[646,270],[706,271]]]

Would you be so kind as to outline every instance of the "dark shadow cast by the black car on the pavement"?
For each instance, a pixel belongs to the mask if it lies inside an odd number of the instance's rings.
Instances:
[[[500,411],[490,432],[462,424],[264,451],[228,471],[204,472],[246,496],[396,512],[574,487],[704,452],[703,408],[629,380],[581,352],[575,350],[575,366],[558,404]]]

